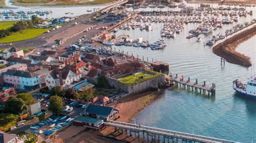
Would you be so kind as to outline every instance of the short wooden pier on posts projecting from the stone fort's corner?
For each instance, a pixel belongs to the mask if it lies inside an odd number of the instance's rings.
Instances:
[[[172,74],[170,76],[165,76],[165,80],[168,82],[168,83],[171,83],[172,85],[174,86],[177,86],[178,85],[180,87],[183,87],[184,89],[186,89],[186,87],[188,89],[192,88],[192,91],[200,91],[200,93],[205,93],[206,94],[206,91],[208,92],[208,96],[210,96],[210,93],[211,93],[211,96],[214,96],[215,95],[215,84],[212,83],[212,86],[206,86],[206,81],[204,81],[204,84],[201,85],[201,84],[198,84],[198,80],[196,79],[196,82],[192,82],[190,81],[190,77],[188,77],[188,80],[185,80],[183,78],[178,78],[178,75],[176,74],[176,76],[173,76]]]

